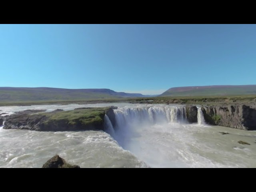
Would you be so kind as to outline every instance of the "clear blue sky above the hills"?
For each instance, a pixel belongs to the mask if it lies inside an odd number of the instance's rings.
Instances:
[[[0,86],[110,88],[256,84],[256,25],[0,25]]]

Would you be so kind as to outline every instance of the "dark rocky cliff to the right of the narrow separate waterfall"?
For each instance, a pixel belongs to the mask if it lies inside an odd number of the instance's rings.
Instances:
[[[256,130],[256,109],[252,106],[204,106],[201,109],[208,124]]]

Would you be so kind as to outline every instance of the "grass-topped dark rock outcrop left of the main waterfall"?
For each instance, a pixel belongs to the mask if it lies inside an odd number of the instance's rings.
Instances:
[[[6,118],[4,129],[36,131],[104,130],[104,116],[114,116],[111,107],[78,110],[54,110],[38,114],[19,113]],[[110,119],[114,122],[114,119]]]

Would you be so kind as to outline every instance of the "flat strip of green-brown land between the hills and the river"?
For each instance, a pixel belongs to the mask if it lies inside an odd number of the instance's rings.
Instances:
[[[26,105],[50,105],[50,104],[94,104],[94,103],[144,103],[144,104],[248,104],[256,102],[256,95],[238,96],[184,96],[184,97],[138,97],[138,98],[98,98],[83,100],[41,100],[41,101],[19,101],[1,102],[0,106],[26,106]]]

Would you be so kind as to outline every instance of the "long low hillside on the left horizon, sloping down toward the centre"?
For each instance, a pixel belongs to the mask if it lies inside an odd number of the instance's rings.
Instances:
[[[110,89],[13,88],[0,87],[0,102],[83,100],[97,98],[143,97],[139,93],[115,92]]]

